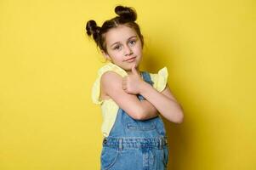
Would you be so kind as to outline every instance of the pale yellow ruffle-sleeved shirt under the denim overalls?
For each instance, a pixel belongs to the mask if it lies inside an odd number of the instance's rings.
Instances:
[[[115,71],[122,77],[127,76],[127,72],[123,70],[118,65],[113,63],[107,63],[103,65],[98,71],[98,77],[94,82],[92,88],[92,99],[94,104],[101,106],[103,123],[101,126],[101,131],[105,137],[109,135],[111,132],[111,127],[114,125],[114,122],[117,117],[117,111],[119,106],[113,99],[100,99],[100,78],[105,73],[105,71]],[[153,88],[156,88],[158,92],[162,92],[162,90],[166,87],[168,82],[168,69],[167,67],[163,67],[157,74],[150,73],[151,81],[154,82]]]

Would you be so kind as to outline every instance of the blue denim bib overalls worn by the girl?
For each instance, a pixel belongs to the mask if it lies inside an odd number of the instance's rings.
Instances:
[[[142,77],[153,85],[148,72],[142,71]],[[167,163],[168,144],[161,117],[138,121],[119,108],[109,136],[103,139],[100,169],[164,170]]]

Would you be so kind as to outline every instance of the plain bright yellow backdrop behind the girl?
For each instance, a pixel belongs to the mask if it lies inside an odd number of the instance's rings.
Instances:
[[[0,169],[100,169],[104,59],[85,24],[136,8],[142,68],[168,67],[185,120],[165,122],[169,169],[256,169],[253,0],[0,0]]]

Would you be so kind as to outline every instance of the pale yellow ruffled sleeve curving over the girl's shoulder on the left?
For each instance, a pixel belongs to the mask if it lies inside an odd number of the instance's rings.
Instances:
[[[122,77],[127,76],[127,72],[124,71],[121,67],[114,65],[112,63],[108,63],[102,66],[98,71],[98,77],[96,78],[93,88],[92,88],[92,100],[94,104],[101,105],[103,100],[100,99],[100,78],[106,71],[115,71]]]

